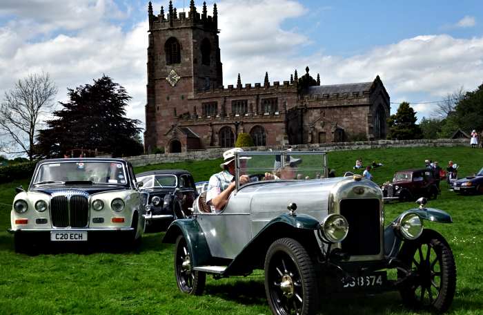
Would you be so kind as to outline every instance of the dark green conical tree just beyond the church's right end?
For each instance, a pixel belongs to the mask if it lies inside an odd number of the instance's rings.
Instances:
[[[389,125],[388,140],[413,140],[422,139],[423,134],[420,126],[416,124],[416,113],[408,102],[402,102],[397,108],[397,113],[387,120]]]

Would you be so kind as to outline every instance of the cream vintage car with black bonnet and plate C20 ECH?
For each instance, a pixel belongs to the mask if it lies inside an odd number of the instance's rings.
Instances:
[[[132,245],[146,227],[146,194],[137,190],[132,165],[124,160],[43,160],[28,190],[16,191],[8,232],[17,252],[46,242],[97,242],[108,235],[113,243]]]

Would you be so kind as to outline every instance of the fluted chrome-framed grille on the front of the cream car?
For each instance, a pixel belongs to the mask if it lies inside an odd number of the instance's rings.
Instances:
[[[87,227],[89,225],[89,194],[85,191],[52,193],[50,216],[53,227]]]

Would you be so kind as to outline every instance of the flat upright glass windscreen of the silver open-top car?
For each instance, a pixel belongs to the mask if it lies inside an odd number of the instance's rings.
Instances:
[[[271,173],[279,180],[315,180],[324,178],[324,154],[320,152],[242,153],[240,175]]]

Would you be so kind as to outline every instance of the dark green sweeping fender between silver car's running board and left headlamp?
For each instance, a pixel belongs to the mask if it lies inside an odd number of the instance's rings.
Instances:
[[[270,220],[265,227],[255,235],[226,267],[222,275],[249,273],[255,269],[257,262],[264,261],[268,247],[279,238],[294,238],[304,246],[318,248],[313,231],[320,225],[313,216],[303,213],[282,214]]]

